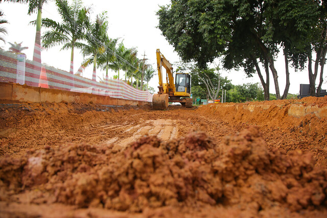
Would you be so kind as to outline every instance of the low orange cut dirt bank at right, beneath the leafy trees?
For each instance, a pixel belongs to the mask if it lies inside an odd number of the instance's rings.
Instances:
[[[200,106],[201,113],[219,116],[226,122],[250,123],[261,126],[290,127],[307,117],[311,121],[327,118],[327,97],[307,97],[301,100],[279,100],[248,103],[226,103]],[[314,128],[315,125],[311,125]],[[326,132],[327,129],[317,126]]]

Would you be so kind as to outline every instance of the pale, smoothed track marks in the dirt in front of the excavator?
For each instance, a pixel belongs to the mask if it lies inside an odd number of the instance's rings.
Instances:
[[[106,131],[120,130],[115,137],[108,138],[105,143],[115,143],[122,147],[143,137],[144,135],[157,135],[164,141],[168,141],[177,135],[176,120],[172,119],[149,119],[139,125],[105,125],[101,126]]]

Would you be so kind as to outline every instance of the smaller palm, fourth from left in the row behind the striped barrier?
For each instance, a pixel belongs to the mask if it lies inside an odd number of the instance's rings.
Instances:
[[[106,80],[108,79],[108,69],[110,68],[110,63],[114,62],[115,47],[118,39],[109,39],[105,42],[105,50],[98,57],[98,65],[102,66],[102,69],[106,69]]]

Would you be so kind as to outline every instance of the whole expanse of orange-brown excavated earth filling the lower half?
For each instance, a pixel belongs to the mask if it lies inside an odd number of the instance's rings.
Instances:
[[[327,97],[0,104],[1,217],[327,217]]]

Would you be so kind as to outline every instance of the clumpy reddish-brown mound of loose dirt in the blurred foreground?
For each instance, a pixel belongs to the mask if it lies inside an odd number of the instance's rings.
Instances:
[[[33,192],[30,203],[130,212],[223,206],[258,215],[327,206],[327,170],[315,166],[310,152],[267,151],[256,127],[226,136],[219,146],[202,126],[179,139],[145,136],[125,148],[46,147],[0,159],[0,182],[7,202],[25,191]]]

